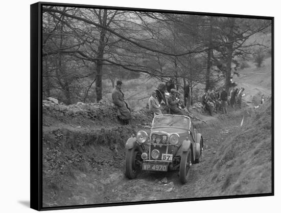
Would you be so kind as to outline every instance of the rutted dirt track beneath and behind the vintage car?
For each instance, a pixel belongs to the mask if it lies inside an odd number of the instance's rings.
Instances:
[[[182,185],[178,172],[141,172],[136,179],[120,178],[106,187],[103,202],[132,202],[147,200],[167,200],[215,196],[206,193],[209,187],[208,177],[214,165],[216,148],[232,132],[239,129],[242,115],[220,116],[212,122],[203,124],[198,130],[204,136],[204,152],[201,163],[192,165],[188,183]],[[227,126],[227,127],[223,127]],[[124,172],[124,168],[121,173]],[[167,178],[167,183],[161,180]]]

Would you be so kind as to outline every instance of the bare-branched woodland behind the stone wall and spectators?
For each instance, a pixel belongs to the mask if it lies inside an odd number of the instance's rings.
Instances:
[[[134,107],[172,76],[179,90],[189,84],[195,99],[204,89],[225,85],[228,90],[231,76],[247,68],[247,61],[261,67],[271,56],[271,24],[264,19],[45,6],[43,98],[65,104],[110,100],[121,79]]]

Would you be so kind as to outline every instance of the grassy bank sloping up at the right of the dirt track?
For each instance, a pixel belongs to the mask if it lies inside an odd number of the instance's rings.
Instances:
[[[231,140],[224,142],[209,179],[215,193],[271,193],[271,99]],[[225,175],[222,181],[219,177]],[[217,181],[216,181],[217,180]],[[222,183],[221,183],[222,182]]]

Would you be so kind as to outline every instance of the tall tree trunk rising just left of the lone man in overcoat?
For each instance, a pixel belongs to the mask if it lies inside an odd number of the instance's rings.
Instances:
[[[102,25],[106,26],[106,19],[107,19],[107,10],[103,10],[103,19]],[[97,94],[97,102],[99,102],[102,96],[102,69],[103,69],[103,55],[104,55],[104,47],[105,47],[105,34],[106,30],[104,28],[101,29],[100,33],[100,40],[99,40],[99,47],[98,47],[98,55],[97,57],[101,60],[97,60],[96,68],[97,68],[97,75],[96,75],[96,94]]]

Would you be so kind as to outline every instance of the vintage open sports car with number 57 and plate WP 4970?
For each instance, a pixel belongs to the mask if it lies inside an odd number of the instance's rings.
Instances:
[[[186,183],[192,163],[199,163],[203,151],[203,137],[194,129],[190,117],[157,115],[151,133],[139,131],[125,145],[125,175],[136,177],[140,170],[167,172],[179,170],[179,178]]]

